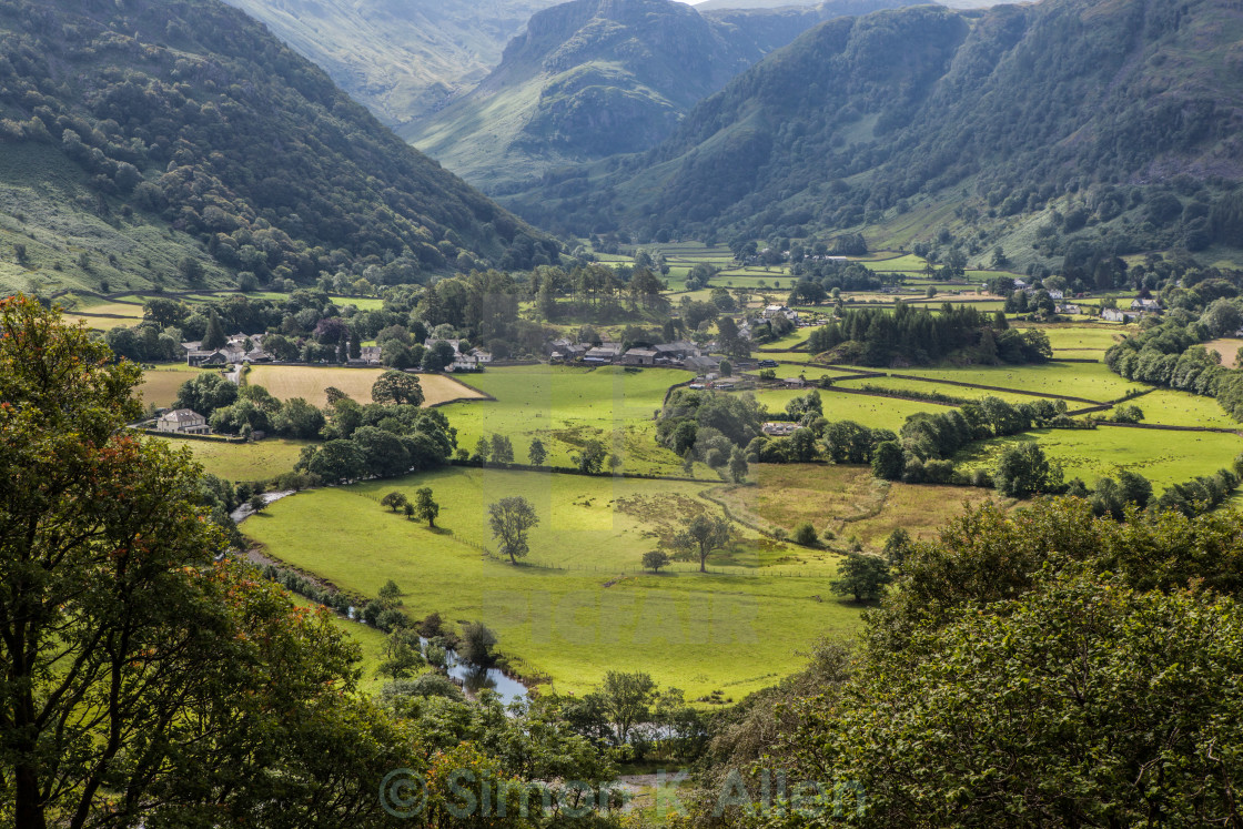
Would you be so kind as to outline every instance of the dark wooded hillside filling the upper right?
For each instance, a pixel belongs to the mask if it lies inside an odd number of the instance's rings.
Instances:
[[[1241,127],[1231,0],[922,6],[823,24],[654,150],[513,201],[576,231],[784,236],[953,205],[972,251],[1062,256],[1085,225],[1116,252],[1198,250],[1227,232]]]

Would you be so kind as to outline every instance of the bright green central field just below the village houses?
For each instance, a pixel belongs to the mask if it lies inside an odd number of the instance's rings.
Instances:
[[[654,440],[654,415],[665,392],[690,374],[677,369],[517,365],[472,374],[470,384],[495,401],[455,403],[441,410],[457,429],[457,445],[472,449],[493,433],[513,441],[515,460],[527,461],[536,436],[552,466],[572,466],[587,440],[602,440],[623,457],[626,472],[680,474],[681,460]]]

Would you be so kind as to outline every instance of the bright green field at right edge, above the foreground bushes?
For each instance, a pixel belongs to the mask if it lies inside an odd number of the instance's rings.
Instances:
[[[1166,433],[1120,426],[1099,429],[1040,429],[998,437],[961,452],[963,470],[992,469],[1006,446],[1038,441],[1050,460],[1062,464],[1066,480],[1081,477],[1089,486],[1122,470],[1144,475],[1161,492],[1171,483],[1228,467],[1243,451],[1243,437],[1218,433]]]

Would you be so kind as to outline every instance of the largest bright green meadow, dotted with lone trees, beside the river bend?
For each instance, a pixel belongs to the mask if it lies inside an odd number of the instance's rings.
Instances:
[[[441,505],[439,532],[377,502],[421,485]],[[344,590],[374,595],[392,578],[415,615],[485,621],[525,676],[547,676],[557,691],[585,691],[608,670],[643,670],[692,698],[721,690],[737,700],[797,670],[794,651],[815,638],[849,634],[858,610],[830,595],[834,556],[753,536],[740,552],[710,559],[717,574],[690,564],[636,573],[654,547],[646,533],[718,510],[697,498],[700,488],[456,467],[301,493],[242,528],[266,553]],[[513,493],[541,517],[531,561],[567,569],[513,567],[476,546],[491,546],[486,505]]]

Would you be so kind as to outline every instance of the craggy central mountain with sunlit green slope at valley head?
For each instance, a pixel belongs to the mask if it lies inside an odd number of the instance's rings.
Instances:
[[[697,101],[810,26],[888,5],[701,15],[672,0],[572,0],[534,15],[501,65],[411,142],[503,191],[552,165],[648,149]]]

